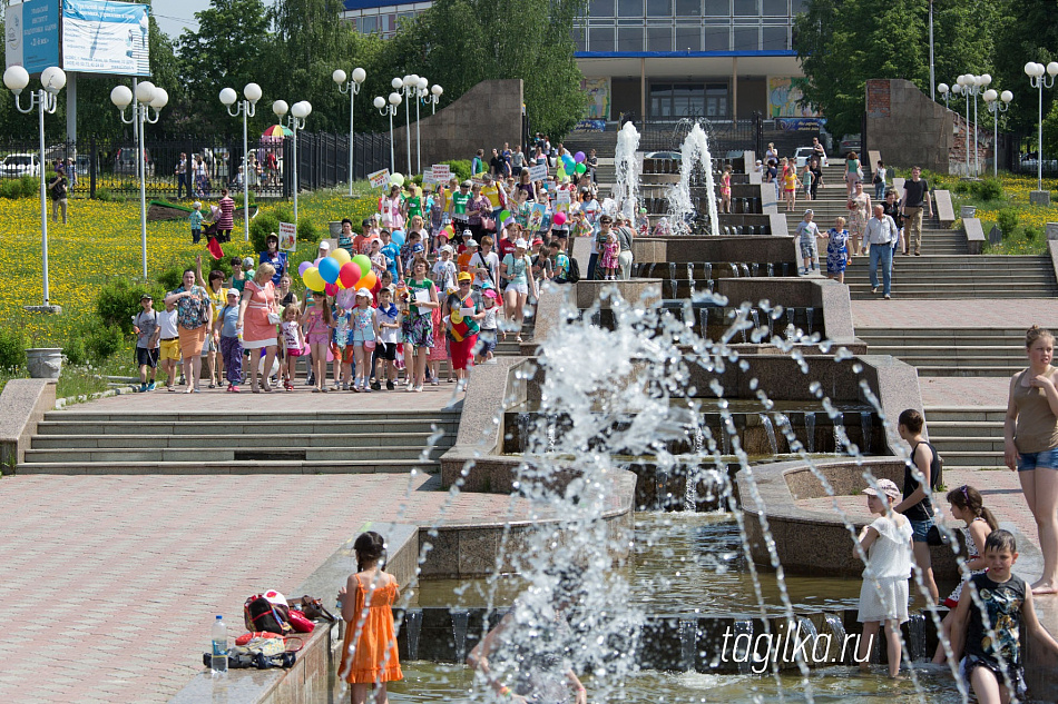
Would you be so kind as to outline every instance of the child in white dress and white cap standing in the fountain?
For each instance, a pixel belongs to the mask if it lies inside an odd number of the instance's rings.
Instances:
[[[866,505],[878,518],[860,532],[860,549],[866,554],[863,586],[860,588],[860,613],[863,636],[856,647],[856,662],[868,670],[871,648],[880,626],[885,624],[889,676],[900,672],[900,624],[908,621],[908,577],[911,575],[911,522],[894,513],[892,502],[900,489],[889,479],[879,479],[878,488],[868,487]]]

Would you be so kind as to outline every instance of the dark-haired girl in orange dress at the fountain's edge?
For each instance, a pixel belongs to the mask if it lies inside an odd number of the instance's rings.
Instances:
[[[352,685],[352,704],[366,704],[368,692],[375,685],[374,703],[388,704],[385,683],[403,680],[396,655],[393,603],[400,596],[396,578],[382,572],[385,541],[370,531],[353,543],[356,569],[339,591],[345,645],[339,677]]]

